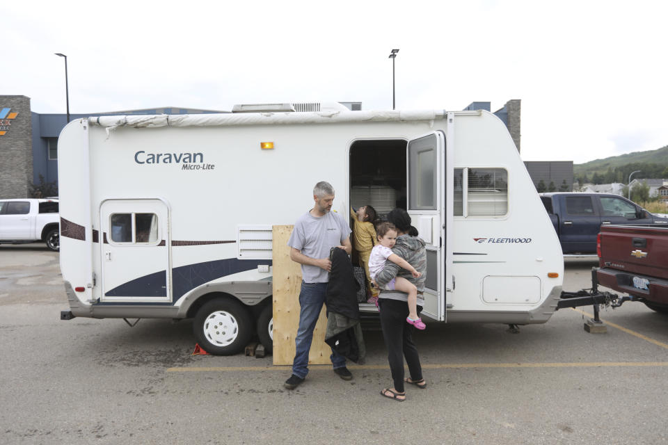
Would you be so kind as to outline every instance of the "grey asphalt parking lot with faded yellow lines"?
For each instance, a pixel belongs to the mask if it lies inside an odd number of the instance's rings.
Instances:
[[[591,260],[566,264],[588,287]],[[378,330],[351,382],[328,366],[283,389],[264,358],[191,355],[191,323],[75,318],[58,254],[0,246],[1,444],[657,444],[668,442],[668,316],[627,302],[548,323],[429,323],[417,334],[425,390],[396,403]]]

